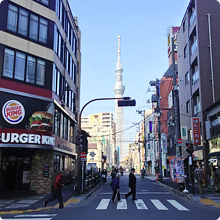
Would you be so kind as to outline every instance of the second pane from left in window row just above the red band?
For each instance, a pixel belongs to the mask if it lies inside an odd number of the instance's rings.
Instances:
[[[24,53],[16,52],[15,77],[14,77],[15,79],[24,81],[25,59],[26,59],[26,56]]]

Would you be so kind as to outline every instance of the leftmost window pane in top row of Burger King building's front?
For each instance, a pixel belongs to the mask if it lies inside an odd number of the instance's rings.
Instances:
[[[9,4],[8,7],[8,30],[17,31],[17,21],[18,21],[18,8],[14,5]]]

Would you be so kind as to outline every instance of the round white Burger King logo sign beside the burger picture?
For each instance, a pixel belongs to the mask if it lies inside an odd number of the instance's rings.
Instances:
[[[9,100],[2,108],[2,115],[9,124],[18,124],[24,119],[24,106],[19,101]]]

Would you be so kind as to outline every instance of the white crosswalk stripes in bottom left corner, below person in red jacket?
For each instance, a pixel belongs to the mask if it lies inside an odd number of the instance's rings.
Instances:
[[[15,215],[14,218],[1,218],[0,220],[51,220],[56,214]]]

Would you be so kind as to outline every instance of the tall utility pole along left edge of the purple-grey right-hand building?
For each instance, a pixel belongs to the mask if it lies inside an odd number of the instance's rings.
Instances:
[[[180,138],[180,124],[179,124],[179,104],[178,104],[178,90],[176,87],[176,65],[175,65],[175,51],[174,51],[174,37],[172,41],[172,64],[173,64],[173,101],[174,101],[174,117],[175,117],[175,143],[176,143],[176,156],[182,157],[182,148],[177,146],[177,139]]]

